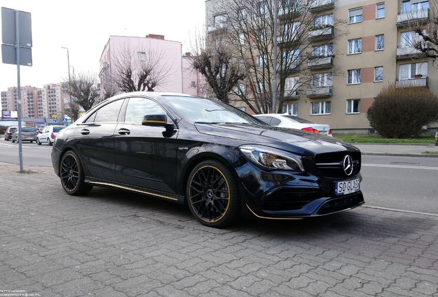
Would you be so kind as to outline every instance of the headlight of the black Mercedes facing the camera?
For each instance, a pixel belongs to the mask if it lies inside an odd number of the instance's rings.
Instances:
[[[243,145],[239,149],[249,161],[263,169],[304,171],[302,158],[299,155],[267,146]]]

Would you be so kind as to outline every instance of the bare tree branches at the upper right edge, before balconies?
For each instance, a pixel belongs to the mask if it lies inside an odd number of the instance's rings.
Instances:
[[[404,4],[397,25],[410,29],[401,36],[401,42],[414,49],[408,54],[413,58],[429,58],[435,65],[438,58],[438,0]]]

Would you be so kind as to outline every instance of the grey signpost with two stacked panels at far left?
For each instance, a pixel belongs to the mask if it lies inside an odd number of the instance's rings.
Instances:
[[[5,64],[17,65],[17,107],[20,171],[23,171],[21,145],[21,85],[20,65],[32,66],[32,25],[29,12],[1,8],[1,59]]]

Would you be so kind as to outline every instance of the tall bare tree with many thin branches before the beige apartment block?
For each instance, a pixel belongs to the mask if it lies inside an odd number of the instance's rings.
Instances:
[[[213,10],[218,14],[207,26],[211,43],[231,47],[229,52],[236,55],[247,74],[231,89],[230,101],[243,101],[254,113],[279,112],[284,102],[300,98],[302,91],[312,86],[309,69],[313,65],[328,61],[331,76],[340,75],[340,69],[333,67],[333,41],[347,33],[346,21],[314,10],[320,0],[278,2],[275,19],[273,0],[216,1]],[[274,69],[278,83],[277,106],[273,108]]]

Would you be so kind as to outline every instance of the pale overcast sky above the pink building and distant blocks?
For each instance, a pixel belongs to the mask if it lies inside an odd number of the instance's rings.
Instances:
[[[160,34],[180,41],[187,52],[205,23],[205,0],[1,0],[0,6],[31,14],[33,65],[20,67],[22,87],[68,77],[67,50],[61,47],[68,47],[76,73],[97,73],[110,35]],[[17,65],[0,63],[0,91],[8,87],[17,87]]]

